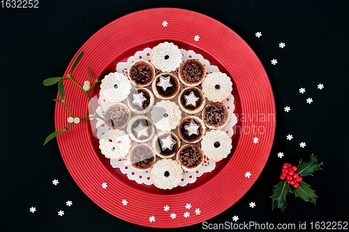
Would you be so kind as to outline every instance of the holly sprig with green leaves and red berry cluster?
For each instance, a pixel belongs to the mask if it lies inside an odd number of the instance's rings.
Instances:
[[[274,187],[273,194],[270,196],[273,199],[272,209],[283,211],[287,205],[287,196],[292,193],[295,193],[295,197],[315,204],[318,196],[315,195],[310,185],[302,180],[304,176],[313,176],[316,170],[321,170],[321,165],[322,162],[314,154],[306,162],[301,159],[298,167],[283,164],[283,173],[280,176],[283,181]]]

